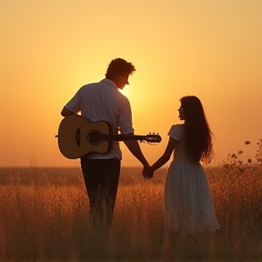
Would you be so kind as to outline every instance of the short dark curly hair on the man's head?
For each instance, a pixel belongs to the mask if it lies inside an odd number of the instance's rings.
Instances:
[[[136,68],[132,63],[126,62],[122,58],[116,58],[108,65],[106,78],[114,81],[118,76],[132,75],[134,71],[136,71]]]

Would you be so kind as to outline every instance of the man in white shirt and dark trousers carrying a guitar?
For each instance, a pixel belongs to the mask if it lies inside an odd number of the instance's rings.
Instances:
[[[91,121],[105,120],[122,135],[133,136],[132,112],[129,100],[118,89],[128,85],[128,77],[135,72],[135,66],[122,58],[110,62],[106,78],[98,83],[82,86],[76,95],[64,106],[61,115],[70,116],[81,112]],[[136,140],[124,141],[129,151],[144,166],[149,165]],[[90,203],[90,216],[94,223],[110,226],[116,203],[122,152],[119,142],[114,141],[112,149],[104,154],[89,153],[81,157],[81,168]]]

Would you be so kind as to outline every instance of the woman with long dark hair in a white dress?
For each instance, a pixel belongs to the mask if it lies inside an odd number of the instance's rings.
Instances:
[[[165,165],[174,152],[164,191],[166,228],[171,232],[186,233],[215,231],[219,225],[207,176],[200,164],[200,161],[212,159],[212,132],[196,96],[182,97],[180,102],[179,118],[184,120],[184,125],[171,126],[163,156],[144,169],[143,175],[153,177],[154,171]]]

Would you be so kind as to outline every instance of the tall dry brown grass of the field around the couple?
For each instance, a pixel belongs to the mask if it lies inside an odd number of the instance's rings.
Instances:
[[[132,169],[121,176],[107,234],[89,223],[80,172],[75,171],[76,180],[70,183],[62,173],[50,176],[34,163],[30,179],[10,171],[0,188],[0,261],[262,259],[261,155],[257,163],[245,163],[241,154],[231,154],[221,167],[205,167],[221,229],[194,236],[165,232],[165,169],[146,183]]]

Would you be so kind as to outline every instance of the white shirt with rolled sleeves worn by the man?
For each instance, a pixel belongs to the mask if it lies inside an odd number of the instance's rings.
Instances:
[[[129,100],[119,92],[115,83],[103,79],[98,83],[82,86],[76,95],[65,105],[74,113],[81,112],[81,116],[91,121],[107,121],[113,128],[113,134],[134,133],[132,112]],[[117,157],[122,159],[119,142],[114,141],[111,150],[106,154],[90,153],[88,159],[108,159]]]

